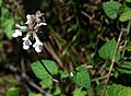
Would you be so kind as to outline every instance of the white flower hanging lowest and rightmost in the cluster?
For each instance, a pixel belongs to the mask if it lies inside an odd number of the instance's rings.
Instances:
[[[43,50],[43,43],[38,39],[37,36],[35,36],[35,44],[33,45],[33,47],[35,48],[36,52],[41,52]]]

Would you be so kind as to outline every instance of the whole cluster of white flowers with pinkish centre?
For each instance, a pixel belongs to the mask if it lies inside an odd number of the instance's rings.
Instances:
[[[37,11],[36,14],[27,14],[26,15],[27,21],[25,22],[25,26],[21,26],[16,24],[15,33],[12,34],[13,37],[22,36],[23,32],[26,32],[26,36],[23,37],[23,49],[27,50],[29,49],[32,41],[29,39],[31,35],[33,35],[33,39],[35,39],[35,44],[33,44],[33,47],[37,52],[41,52],[43,50],[43,43],[39,40],[37,36],[37,32],[40,26],[47,25],[44,19],[44,13],[40,13],[40,11]]]

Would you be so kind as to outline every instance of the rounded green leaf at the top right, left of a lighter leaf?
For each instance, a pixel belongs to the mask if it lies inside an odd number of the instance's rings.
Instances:
[[[115,20],[119,13],[119,8],[121,7],[121,3],[117,1],[107,1],[104,2],[103,7],[107,16],[111,20]]]

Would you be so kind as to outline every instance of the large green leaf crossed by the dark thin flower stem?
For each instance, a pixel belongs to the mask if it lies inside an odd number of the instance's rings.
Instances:
[[[45,64],[45,67],[48,69],[48,71],[51,74],[58,73],[58,65],[56,64],[56,62],[50,61],[50,60],[41,60],[41,62]],[[50,76],[39,61],[32,63],[31,68],[33,70],[33,72],[35,73],[35,75],[40,80],[44,80],[44,79]]]

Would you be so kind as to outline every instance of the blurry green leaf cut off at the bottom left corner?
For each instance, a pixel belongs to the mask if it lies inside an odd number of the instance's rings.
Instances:
[[[20,96],[20,88],[19,87],[11,87],[7,91],[5,96]]]

